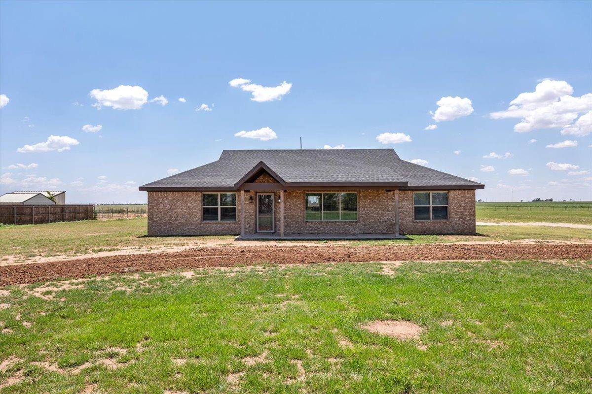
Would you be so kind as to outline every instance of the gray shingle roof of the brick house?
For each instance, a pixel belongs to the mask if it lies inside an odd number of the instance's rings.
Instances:
[[[394,149],[225,150],[217,161],[140,186],[166,188],[234,188],[264,162],[286,183],[401,183],[408,187],[482,188],[482,184],[401,160]]]

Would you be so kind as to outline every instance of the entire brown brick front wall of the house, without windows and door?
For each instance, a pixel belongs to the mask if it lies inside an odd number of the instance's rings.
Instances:
[[[266,174],[264,174],[266,175]],[[270,180],[265,180],[269,182]],[[355,222],[306,222],[304,190],[284,193],[284,233],[394,233],[395,193],[378,189],[335,190],[358,192],[358,220]],[[326,193],[330,193],[326,192]],[[448,220],[413,220],[413,191],[399,192],[400,228],[409,234],[475,233],[475,191],[451,190]],[[275,230],[279,233],[279,191],[275,194]],[[253,202],[249,202],[253,197]],[[245,193],[245,233],[255,233],[256,193]],[[239,235],[240,191],[237,193],[236,222],[202,222],[201,192],[150,191],[148,193],[148,235]]]

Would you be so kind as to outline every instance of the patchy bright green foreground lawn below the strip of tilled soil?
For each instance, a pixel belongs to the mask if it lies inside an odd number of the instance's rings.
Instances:
[[[592,270],[391,269],[262,266],[116,275],[58,291],[56,282],[8,286],[0,363],[12,362],[0,382],[22,380],[2,393],[591,392]],[[361,328],[387,319],[423,332],[397,340]]]

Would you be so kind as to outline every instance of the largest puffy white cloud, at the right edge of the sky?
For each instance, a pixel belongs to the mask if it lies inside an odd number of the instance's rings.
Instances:
[[[490,117],[522,119],[514,125],[514,131],[519,133],[559,128],[563,128],[564,133],[579,133],[578,130],[572,130],[570,125],[578,113],[592,110],[592,93],[573,97],[573,92],[574,88],[565,81],[543,80],[536,85],[535,92],[520,93],[510,102],[508,109],[492,112]]]

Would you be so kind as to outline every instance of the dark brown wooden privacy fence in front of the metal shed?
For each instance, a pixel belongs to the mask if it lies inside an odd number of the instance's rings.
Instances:
[[[42,224],[95,219],[94,205],[0,205],[4,224]]]

